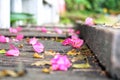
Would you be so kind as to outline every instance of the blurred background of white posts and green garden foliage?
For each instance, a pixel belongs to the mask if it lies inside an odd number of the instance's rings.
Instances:
[[[74,24],[92,17],[96,24],[120,20],[120,0],[0,0],[0,28]]]

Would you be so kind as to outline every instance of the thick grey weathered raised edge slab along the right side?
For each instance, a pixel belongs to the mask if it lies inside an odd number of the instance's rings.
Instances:
[[[120,79],[120,30],[104,25],[87,26],[76,24],[80,37],[106,67],[114,78]]]

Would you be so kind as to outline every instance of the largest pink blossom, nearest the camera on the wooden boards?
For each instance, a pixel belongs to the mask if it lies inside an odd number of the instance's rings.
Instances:
[[[67,71],[72,65],[66,55],[60,55],[59,53],[51,59],[52,70]]]

